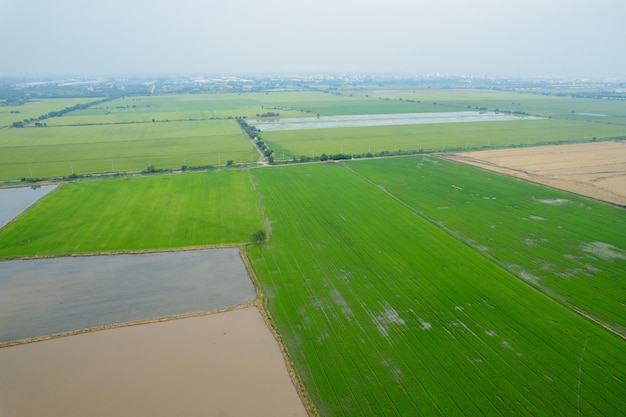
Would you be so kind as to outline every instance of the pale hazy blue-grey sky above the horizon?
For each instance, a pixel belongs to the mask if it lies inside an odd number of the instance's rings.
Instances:
[[[626,79],[625,0],[0,0],[0,76]]]

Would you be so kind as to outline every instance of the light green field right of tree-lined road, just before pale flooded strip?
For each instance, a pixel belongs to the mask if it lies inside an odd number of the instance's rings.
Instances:
[[[331,154],[531,146],[626,136],[626,125],[557,119],[261,132],[276,159]]]

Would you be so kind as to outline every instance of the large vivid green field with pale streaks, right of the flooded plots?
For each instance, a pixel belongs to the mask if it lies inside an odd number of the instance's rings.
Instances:
[[[358,164],[385,178],[394,161]],[[623,340],[381,186],[341,164],[257,169],[253,178],[271,234],[249,257],[321,415],[625,409]]]

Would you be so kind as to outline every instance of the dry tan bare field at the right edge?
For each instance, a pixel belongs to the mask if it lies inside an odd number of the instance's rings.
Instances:
[[[449,159],[626,206],[626,142],[497,149]]]

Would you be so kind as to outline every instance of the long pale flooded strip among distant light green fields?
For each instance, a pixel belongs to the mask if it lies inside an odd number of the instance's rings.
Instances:
[[[352,116],[293,117],[275,119],[250,119],[248,124],[261,131],[333,129],[339,127],[370,127],[417,125],[433,123],[495,122],[506,120],[538,119],[532,116],[515,116],[495,112],[441,112],[405,114],[368,114]]]

